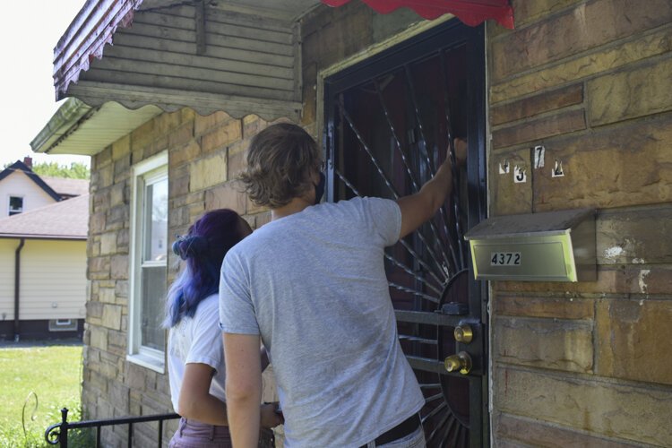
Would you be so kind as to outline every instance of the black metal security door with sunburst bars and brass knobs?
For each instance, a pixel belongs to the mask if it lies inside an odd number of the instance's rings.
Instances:
[[[463,239],[485,217],[483,41],[482,27],[447,22],[325,80],[329,201],[413,194],[446,152],[454,160],[453,137],[469,142],[451,197],[385,253],[433,447],[488,443],[487,291],[470,274]]]

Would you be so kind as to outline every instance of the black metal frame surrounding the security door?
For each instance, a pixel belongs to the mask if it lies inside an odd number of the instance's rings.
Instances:
[[[415,35],[396,41],[392,46],[384,48],[376,54],[367,53],[366,57],[357,56],[350,63],[340,63],[327,69],[318,75],[318,117],[321,122],[318,126],[323,128],[323,151],[327,165],[327,185],[325,197],[327,201],[334,200],[334,166],[333,166],[333,142],[334,127],[330,121],[330,110],[333,110],[334,91],[347,90],[358,85],[366,79],[371,79],[375,73],[383,73],[404,62],[421,59],[430,55],[437,47],[466,44],[467,73],[470,73],[470,89],[467,95],[469,114],[469,152],[467,157],[467,194],[469,207],[466,211],[467,228],[474,227],[481,220],[487,218],[487,103],[486,103],[486,46],[485,25],[468,27],[457,19],[444,20],[433,25],[428,30],[416,31]],[[414,57],[409,59],[409,49],[417,51]],[[454,113],[454,112],[453,112]],[[319,129],[318,127],[318,129]],[[469,268],[472,271],[471,258]],[[488,393],[490,379],[490,347],[489,347],[489,320],[487,305],[489,301],[488,283],[476,281],[470,275],[469,304],[471,309],[480,310],[480,323],[484,329],[483,338],[483,375],[481,376],[478,393],[470,394],[470,413],[478,414],[480,418],[480,435],[472,434],[471,446],[489,446],[490,444],[490,415]],[[476,381],[476,380],[474,380]],[[478,409],[478,410],[476,410]],[[477,418],[478,418],[477,417]]]

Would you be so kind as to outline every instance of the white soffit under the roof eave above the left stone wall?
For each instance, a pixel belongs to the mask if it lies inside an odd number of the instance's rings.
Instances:
[[[158,116],[162,110],[144,106],[129,110],[116,102],[92,108],[69,98],[30,142],[32,151],[92,156]]]

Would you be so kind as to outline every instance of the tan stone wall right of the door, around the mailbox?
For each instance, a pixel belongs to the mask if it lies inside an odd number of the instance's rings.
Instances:
[[[513,8],[516,30],[488,26],[490,212],[598,209],[599,267],[492,283],[495,445],[670,446],[672,4]]]

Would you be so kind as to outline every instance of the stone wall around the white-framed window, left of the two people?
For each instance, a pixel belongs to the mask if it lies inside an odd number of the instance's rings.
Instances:
[[[242,167],[251,135],[266,123],[256,116],[233,119],[223,112],[198,116],[190,109],[163,114],[126,135],[92,159],[91,280],[84,336],[82,405],[87,418],[172,412],[168,374],[126,360],[128,342],[128,254],[131,167],[168,151],[168,235],[182,234],[203,211],[232,208],[253,227],[270,218],[254,208],[231,179]],[[177,256],[168,254],[169,279]],[[168,424],[164,438],[176,425]],[[103,431],[106,446],[125,444],[126,426]],[[135,428],[137,446],[150,446],[156,425]]]

